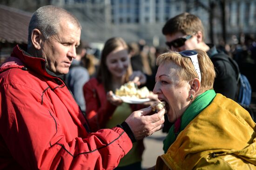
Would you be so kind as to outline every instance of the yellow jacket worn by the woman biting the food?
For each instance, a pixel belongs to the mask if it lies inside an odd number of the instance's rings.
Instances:
[[[233,100],[217,94],[179,134],[156,170],[256,170],[256,124]]]

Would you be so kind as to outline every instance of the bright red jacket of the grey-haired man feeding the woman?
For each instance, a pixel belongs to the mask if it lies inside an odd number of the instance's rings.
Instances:
[[[118,127],[90,133],[46,61],[16,46],[0,67],[0,169],[112,170],[131,149]]]

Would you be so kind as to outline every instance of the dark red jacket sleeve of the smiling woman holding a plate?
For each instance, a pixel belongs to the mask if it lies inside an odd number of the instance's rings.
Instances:
[[[97,88],[96,88],[97,87]],[[116,106],[107,101],[103,86],[97,85],[96,79],[91,79],[83,86],[83,93],[86,103],[86,118],[91,131],[98,131],[105,128],[108,120],[113,115]],[[103,103],[101,102],[103,101]]]

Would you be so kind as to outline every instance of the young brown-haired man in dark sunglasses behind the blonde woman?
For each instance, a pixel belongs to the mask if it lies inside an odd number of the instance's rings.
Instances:
[[[182,13],[169,19],[162,28],[166,38],[166,45],[171,51],[184,51],[202,49],[209,55],[216,68],[214,90],[227,98],[235,99],[237,92],[237,73],[229,62],[222,58],[228,58],[217,51],[216,46],[204,42],[204,28],[202,21],[190,13]],[[218,58],[218,59],[216,59]]]

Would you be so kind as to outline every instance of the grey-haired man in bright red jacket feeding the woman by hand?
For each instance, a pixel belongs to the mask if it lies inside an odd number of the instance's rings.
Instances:
[[[148,107],[111,129],[90,131],[59,78],[76,58],[80,36],[74,15],[40,7],[29,23],[28,45],[15,46],[0,66],[0,169],[111,170],[132,142],[162,128],[165,110],[150,115]]]

